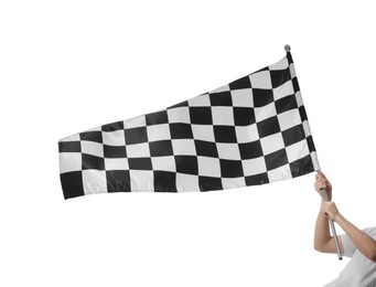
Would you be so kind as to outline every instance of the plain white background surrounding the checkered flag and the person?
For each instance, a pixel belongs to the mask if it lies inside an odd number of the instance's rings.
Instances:
[[[355,3],[355,1],[354,1]],[[214,89],[290,44],[340,211],[376,224],[372,1],[1,1],[0,286],[322,286],[314,173],[64,201],[57,140]],[[337,227],[337,232],[342,231]]]

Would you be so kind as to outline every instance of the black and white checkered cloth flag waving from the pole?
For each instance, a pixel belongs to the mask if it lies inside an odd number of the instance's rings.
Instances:
[[[290,52],[214,91],[58,147],[65,199],[233,189],[319,170]]]

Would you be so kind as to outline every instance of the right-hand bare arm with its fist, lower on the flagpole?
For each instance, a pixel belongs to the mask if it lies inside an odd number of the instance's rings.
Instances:
[[[376,241],[374,238],[347,221],[339,212],[334,202],[324,202],[323,212],[343,228],[356,248],[362,252],[364,256],[373,262],[376,262]]]

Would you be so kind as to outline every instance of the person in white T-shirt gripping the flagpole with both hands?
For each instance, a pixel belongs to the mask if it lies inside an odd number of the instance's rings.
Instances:
[[[332,185],[322,172],[316,174],[314,188],[320,195],[321,190],[326,189],[327,196],[332,200]],[[339,236],[339,245],[341,253],[352,259],[340,276],[325,286],[375,287],[376,227],[358,230],[339,212],[334,202],[324,202],[322,199],[314,228],[314,248],[323,253],[336,253],[334,238],[329,231],[329,217],[345,232]]]

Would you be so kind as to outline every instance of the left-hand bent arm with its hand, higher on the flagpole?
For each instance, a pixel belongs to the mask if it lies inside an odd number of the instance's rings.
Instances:
[[[318,193],[321,194],[322,189],[326,189],[327,196],[331,200],[332,199],[332,184],[329,182],[326,177],[320,172],[316,174],[316,181],[314,183],[314,188],[318,191]],[[330,230],[329,230],[329,220],[325,216],[322,208],[323,208],[323,199],[321,198],[321,209],[316,219],[316,224],[314,227],[314,249],[322,253],[336,253],[335,248],[335,242],[334,237],[331,236]],[[343,244],[342,241],[339,240],[339,245],[341,253],[343,254]]]

